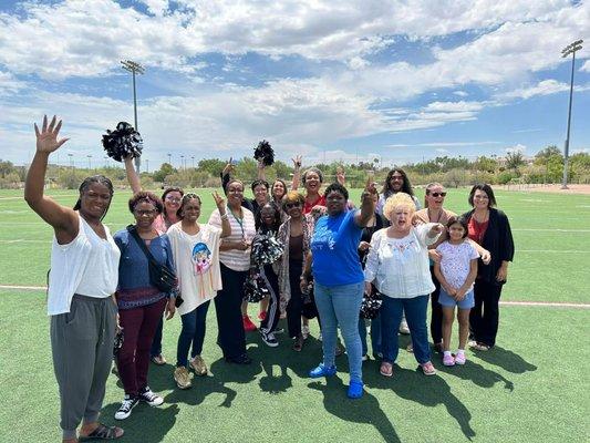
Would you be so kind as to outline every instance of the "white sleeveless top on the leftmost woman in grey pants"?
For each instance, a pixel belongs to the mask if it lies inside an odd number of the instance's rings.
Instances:
[[[104,225],[106,239],[99,237],[79,214],[76,237],[60,245],[55,236],[51,246],[48,313],[56,316],[70,312],[74,293],[87,297],[111,297],[118,281],[118,250],[108,227]]]

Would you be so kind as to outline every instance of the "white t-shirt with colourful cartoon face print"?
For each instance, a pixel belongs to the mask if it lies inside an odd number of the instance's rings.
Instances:
[[[167,231],[170,239],[178,287],[184,303],[178,313],[184,316],[213,299],[221,289],[219,270],[219,239],[221,229],[211,225],[199,225],[196,235],[183,230],[182,222],[172,225]]]

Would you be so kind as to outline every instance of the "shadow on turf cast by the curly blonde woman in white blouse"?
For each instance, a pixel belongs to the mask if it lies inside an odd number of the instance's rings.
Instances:
[[[372,367],[372,365],[371,365]],[[434,408],[443,404],[455,419],[463,434],[472,440],[475,431],[470,425],[472,413],[451,392],[451,387],[439,377],[425,377],[418,370],[402,369],[394,364],[393,378],[385,378],[379,371],[363,369],[365,384],[371,388],[391,389],[402,399]]]

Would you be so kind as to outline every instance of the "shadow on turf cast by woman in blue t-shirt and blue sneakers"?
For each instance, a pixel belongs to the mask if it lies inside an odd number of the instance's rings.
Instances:
[[[369,392],[365,391],[361,399],[350,400],[346,396],[346,387],[338,377],[325,379],[325,384],[314,381],[308,387],[323,393],[323,405],[332,415],[351,423],[372,424],[385,442],[400,442],[377,399]]]

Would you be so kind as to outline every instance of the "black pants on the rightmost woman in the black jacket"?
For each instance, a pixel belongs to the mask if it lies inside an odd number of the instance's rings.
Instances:
[[[475,307],[469,313],[469,326],[473,339],[488,347],[496,344],[500,293],[501,286],[490,285],[479,279],[475,280]]]

